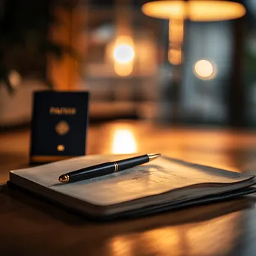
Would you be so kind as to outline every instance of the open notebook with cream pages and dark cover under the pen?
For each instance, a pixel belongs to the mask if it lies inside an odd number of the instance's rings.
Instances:
[[[143,216],[255,192],[253,175],[160,156],[158,159],[90,180],[59,183],[69,171],[132,155],[89,155],[10,171],[9,184],[97,218]]]

